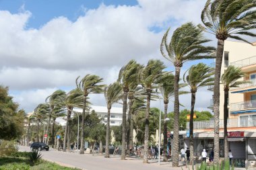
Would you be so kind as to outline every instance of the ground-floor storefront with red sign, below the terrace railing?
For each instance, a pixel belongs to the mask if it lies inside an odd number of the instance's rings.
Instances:
[[[184,146],[189,147],[189,137],[183,135]],[[214,149],[214,132],[197,132],[194,135],[194,156],[201,156],[203,149],[207,152]],[[229,132],[228,150],[233,155],[235,167],[256,167],[256,132]],[[224,157],[223,132],[220,132],[220,157]]]

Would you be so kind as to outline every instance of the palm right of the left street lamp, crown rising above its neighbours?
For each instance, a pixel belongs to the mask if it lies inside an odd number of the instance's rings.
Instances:
[[[84,95],[83,98],[83,113],[82,113],[82,132],[81,132],[81,147],[79,154],[84,154],[84,119],[86,116],[86,102],[87,97],[91,93],[102,93],[103,88],[105,85],[98,85],[98,83],[101,83],[103,81],[102,78],[98,77],[97,75],[86,75],[81,81],[78,83],[79,77],[75,80],[75,83],[77,85],[77,89],[81,91]]]

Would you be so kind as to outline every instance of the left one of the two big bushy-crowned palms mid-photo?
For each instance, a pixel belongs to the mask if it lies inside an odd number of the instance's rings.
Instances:
[[[122,134],[122,153],[121,153],[121,160],[125,160],[125,151],[126,151],[126,112],[127,112],[127,95],[129,92],[129,87],[135,81],[137,81],[137,72],[141,66],[137,64],[135,60],[130,60],[127,65],[121,68],[119,71],[119,79],[118,81],[123,86],[123,134]]]

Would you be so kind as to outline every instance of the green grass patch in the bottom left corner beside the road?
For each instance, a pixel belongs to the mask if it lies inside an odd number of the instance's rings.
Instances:
[[[0,170],[74,170],[76,168],[62,167],[57,163],[51,163],[49,161],[40,160],[33,165],[28,157],[22,157],[22,154],[18,154],[18,157],[3,157],[0,158]],[[16,155],[17,156],[17,155]],[[77,169],[78,170],[78,169]]]

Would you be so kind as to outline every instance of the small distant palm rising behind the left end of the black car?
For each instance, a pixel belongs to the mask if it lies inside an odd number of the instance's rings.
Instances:
[[[39,125],[41,120],[46,119],[47,114],[49,114],[50,111],[50,105],[46,103],[40,103],[36,108],[34,109],[34,118],[37,120],[37,126],[36,126],[36,142],[39,142]]]

